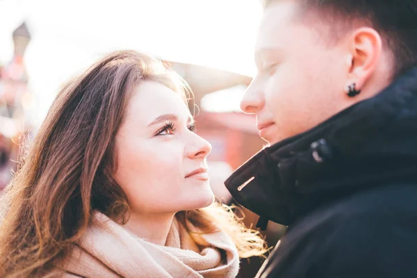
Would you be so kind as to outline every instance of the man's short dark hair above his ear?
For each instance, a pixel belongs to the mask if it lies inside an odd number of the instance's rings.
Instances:
[[[263,5],[279,0],[263,0]],[[382,37],[393,54],[393,76],[417,65],[417,0],[294,0],[302,13],[318,13],[320,21],[349,24],[363,20]],[[336,22],[335,22],[336,21]]]

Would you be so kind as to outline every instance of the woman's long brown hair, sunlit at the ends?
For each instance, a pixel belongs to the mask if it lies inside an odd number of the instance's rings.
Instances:
[[[146,80],[187,98],[188,86],[179,76],[136,51],[109,54],[60,90],[0,200],[0,277],[53,273],[85,232],[92,211],[126,222],[129,203],[112,176],[114,138],[134,87]],[[203,227],[216,221],[222,227],[223,217],[241,256],[265,252],[259,234],[220,210],[225,211],[217,205],[191,211],[184,219]]]

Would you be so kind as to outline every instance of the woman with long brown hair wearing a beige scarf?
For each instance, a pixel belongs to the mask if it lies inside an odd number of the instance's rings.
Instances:
[[[212,204],[188,95],[136,51],[66,85],[3,196],[0,277],[236,277],[263,254]]]

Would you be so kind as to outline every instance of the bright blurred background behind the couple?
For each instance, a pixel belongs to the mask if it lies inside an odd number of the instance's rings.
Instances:
[[[0,188],[60,85],[109,51],[135,49],[170,63],[190,84],[198,133],[213,145],[211,186],[233,204],[223,181],[265,144],[254,116],[239,108],[256,72],[261,13],[258,0],[0,0]],[[258,217],[244,213],[254,226]],[[283,232],[270,222],[263,234],[275,245]],[[254,277],[262,261],[242,261],[238,277]]]

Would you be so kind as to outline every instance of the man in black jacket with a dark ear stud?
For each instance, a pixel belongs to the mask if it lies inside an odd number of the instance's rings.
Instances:
[[[241,102],[270,143],[226,181],[288,225],[257,277],[417,277],[417,0],[272,0]]]

